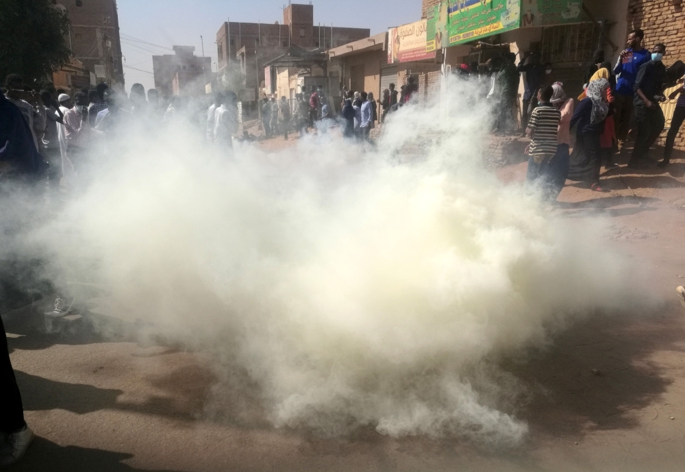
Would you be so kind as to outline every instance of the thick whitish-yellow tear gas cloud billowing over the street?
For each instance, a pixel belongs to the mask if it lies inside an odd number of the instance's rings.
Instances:
[[[273,425],[515,445],[524,387],[497,359],[640,294],[597,228],[484,168],[487,106],[451,89],[449,119],[405,108],[375,148],[131,135],[58,219],[55,266],[99,260],[123,313],[244,369]]]

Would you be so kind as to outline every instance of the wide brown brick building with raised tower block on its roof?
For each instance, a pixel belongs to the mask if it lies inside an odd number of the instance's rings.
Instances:
[[[227,21],[216,33],[219,79],[238,92],[241,101],[264,94],[264,66],[288,54],[289,48],[330,49],[367,38],[369,29],[314,25],[314,6],[292,3],[282,23]]]

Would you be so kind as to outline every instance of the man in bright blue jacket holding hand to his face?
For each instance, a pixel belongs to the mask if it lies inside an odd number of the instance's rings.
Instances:
[[[628,48],[621,51],[619,61],[614,67],[616,90],[614,91],[614,126],[619,152],[625,145],[630,120],[633,116],[634,86],[640,67],[651,60],[651,53],[642,47],[645,32],[633,29],[628,34]]]

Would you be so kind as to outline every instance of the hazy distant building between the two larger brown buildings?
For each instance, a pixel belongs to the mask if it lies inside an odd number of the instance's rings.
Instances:
[[[195,46],[173,46],[173,54],[153,55],[155,88],[162,97],[195,95],[205,92],[212,81],[212,58],[193,54]]]

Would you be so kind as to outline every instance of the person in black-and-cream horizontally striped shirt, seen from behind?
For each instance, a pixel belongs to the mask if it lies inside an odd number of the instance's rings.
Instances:
[[[551,86],[538,90],[538,108],[533,110],[528,127],[525,130],[532,138],[530,159],[528,160],[527,180],[532,182],[545,174],[549,160],[557,150],[557,130],[561,113],[549,100],[554,93]]]

